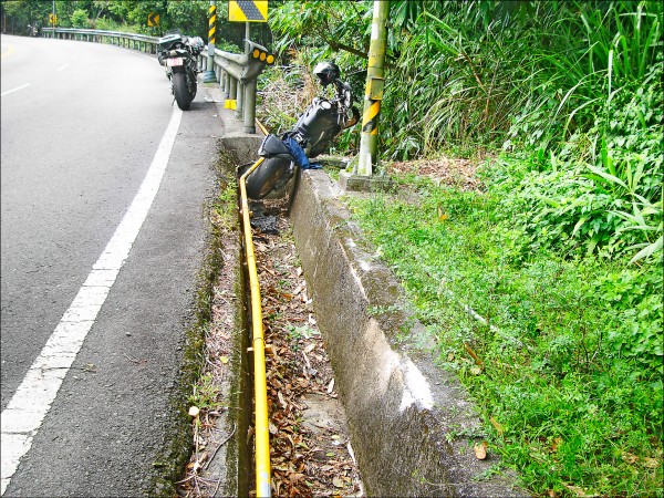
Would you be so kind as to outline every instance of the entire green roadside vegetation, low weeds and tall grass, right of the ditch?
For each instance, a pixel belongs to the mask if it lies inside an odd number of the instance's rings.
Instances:
[[[371,7],[278,7],[276,86],[302,94],[294,66],[332,59],[362,95]],[[662,4],[393,1],[390,20],[397,188],[347,201],[440,367],[535,495],[662,496]],[[476,188],[417,174],[443,158],[475,163]]]

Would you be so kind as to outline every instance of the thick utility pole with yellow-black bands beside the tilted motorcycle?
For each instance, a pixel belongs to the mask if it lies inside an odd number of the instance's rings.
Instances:
[[[381,101],[383,100],[383,87],[385,85],[383,66],[385,64],[385,46],[387,42],[386,20],[388,12],[390,0],[374,0],[366,71],[366,92],[364,94],[364,113],[362,116],[362,137],[360,141],[359,176],[371,176],[373,165],[377,163],[378,114],[381,112]]]

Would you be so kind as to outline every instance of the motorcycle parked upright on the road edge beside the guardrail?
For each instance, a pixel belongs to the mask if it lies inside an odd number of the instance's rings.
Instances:
[[[170,91],[183,111],[189,108],[196,96],[197,56],[204,48],[200,37],[185,37],[179,32],[166,34],[158,40],[157,59],[166,68],[166,76],[172,83]]]

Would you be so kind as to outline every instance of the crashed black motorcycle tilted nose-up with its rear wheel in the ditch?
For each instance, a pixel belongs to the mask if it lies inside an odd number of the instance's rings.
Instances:
[[[322,62],[313,69],[321,85],[334,85],[332,98],[315,97],[298,118],[293,129],[281,138],[268,135],[258,149],[264,160],[247,177],[247,195],[262,199],[270,193],[283,197],[288,181],[300,169],[315,168],[309,163],[324,153],[342,129],[353,126],[360,120],[360,112],[353,106],[351,85],[342,82],[339,68],[331,62]]]

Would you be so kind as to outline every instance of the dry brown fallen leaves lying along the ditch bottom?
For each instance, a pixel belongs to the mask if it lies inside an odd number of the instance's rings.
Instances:
[[[286,220],[279,235],[256,234],[263,294],[273,496],[356,494],[359,473],[347,435],[305,422],[311,396],[334,400],[334,376]],[[262,290],[264,289],[264,290]]]

